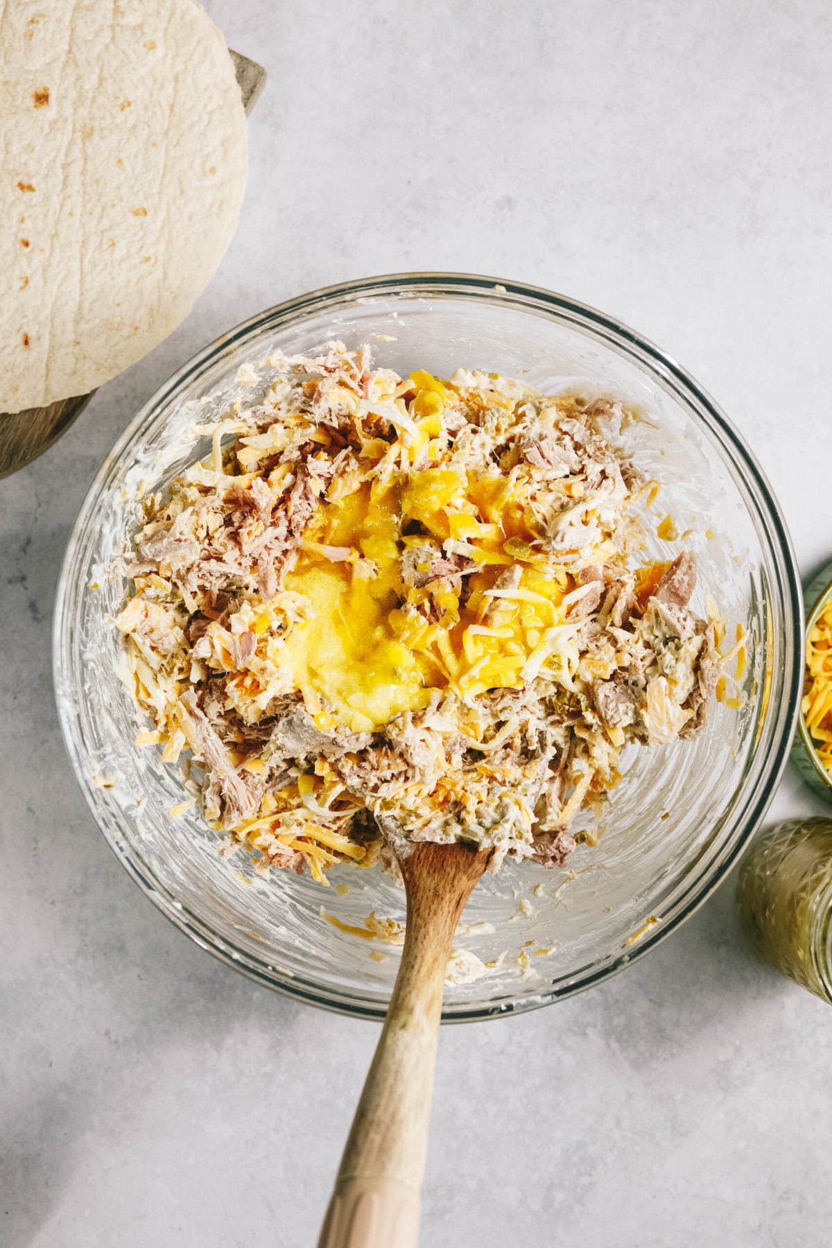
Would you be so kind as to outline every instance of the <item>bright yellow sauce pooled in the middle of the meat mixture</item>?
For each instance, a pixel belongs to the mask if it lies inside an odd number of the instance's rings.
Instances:
[[[434,538],[462,539],[480,565],[468,577],[464,607],[454,590],[403,584],[402,552],[424,542],[402,535],[402,523],[409,520]],[[514,590],[495,588],[503,568],[520,555],[516,548],[528,553],[529,537],[529,519],[506,497],[504,478],[467,479],[447,469],[423,469],[402,485],[363,484],[338,502],[322,503],[307,529],[306,549],[284,579],[308,605],[282,656],[318,726],[370,731],[402,711],[427,706],[435,689],[453,686],[465,695],[520,689],[529,661],[535,673],[545,661],[549,673],[563,675],[571,688],[564,649],[569,640],[554,635],[563,623],[560,602],[569,578],[525,567]],[[321,547],[348,548],[352,554],[333,562]],[[360,575],[368,570],[357,568],[362,558],[374,564],[373,575]],[[419,605],[427,598],[433,599],[437,623],[399,605]]]

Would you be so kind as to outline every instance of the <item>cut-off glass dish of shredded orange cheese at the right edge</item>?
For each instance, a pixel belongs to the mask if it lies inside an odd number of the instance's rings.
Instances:
[[[832,801],[832,563],[806,587],[803,604],[806,679],[792,761]]]

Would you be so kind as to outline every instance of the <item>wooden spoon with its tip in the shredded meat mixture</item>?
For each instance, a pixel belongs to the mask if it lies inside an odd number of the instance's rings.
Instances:
[[[415,1248],[442,990],[459,916],[491,850],[414,845],[402,965],[318,1248]]]

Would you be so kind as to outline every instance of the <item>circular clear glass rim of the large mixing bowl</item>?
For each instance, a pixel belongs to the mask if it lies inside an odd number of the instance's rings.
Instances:
[[[699,409],[712,424],[711,432],[716,432],[723,444],[727,444],[738,461],[738,467],[743,478],[743,484],[751,493],[756,493],[761,513],[766,519],[765,534],[775,557],[775,565],[778,572],[778,589],[783,598],[786,610],[785,630],[792,638],[805,635],[803,626],[803,602],[801,592],[797,562],[792,550],[791,539],[786,520],[777,502],[777,498],[768,483],[766,474],[757,463],[756,457],[748,449],[745,439],[715,403],[710,394],[684,369],[671,356],[656,347],[650,339],[631,329],[616,318],[581,303],[578,300],[559,295],[544,287],[530,286],[525,282],[514,282],[505,278],[488,277],[475,273],[454,272],[404,272],[388,273],[375,277],[358,278],[348,282],[339,282],[332,286],[319,287],[307,295],[284,300],[263,312],[254,313],[232,329],[220,334],[211,343],[196,352],[190,359],[181,364],[141,406],[136,416],[128,422],[120,437],[114,443],[111,451],[105,457],[90,488],[87,489],[77,518],[67,542],[66,552],[61,564],[57,582],[55,615],[52,622],[52,678],[56,690],[61,688],[62,673],[69,664],[65,664],[64,644],[66,640],[66,607],[71,590],[71,572],[75,550],[79,539],[85,530],[89,515],[94,509],[95,500],[106,485],[107,477],[115,469],[123,451],[133,439],[135,434],[152,422],[161,406],[172,399],[177,392],[182,392],[191,381],[208,369],[208,367],[221,356],[231,354],[237,346],[253,341],[261,332],[267,329],[286,328],[296,316],[306,316],[311,312],[326,312],[329,306],[337,306],[343,301],[358,302],[368,297],[395,296],[400,293],[430,296],[459,296],[472,301],[501,303],[510,307],[525,307],[528,311],[536,310],[539,313],[549,313],[555,319],[566,318],[570,323],[578,323],[589,329],[602,333],[611,339],[619,349],[624,348],[630,356],[635,356],[639,363],[646,363],[660,377],[675,381],[676,384],[694,399],[691,414],[701,414]],[[785,643],[787,644],[787,643]],[[615,958],[607,958],[597,968],[581,973],[576,980],[556,991],[541,992],[539,996],[520,998],[514,1002],[496,1001],[491,1006],[475,1006],[470,1010],[455,1010],[443,1012],[443,1022],[474,1022],[486,1018],[510,1017],[516,1013],[525,1013],[530,1010],[543,1008],[556,1001],[566,1000],[585,988],[601,983],[614,975],[617,975],[626,966],[632,965],[647,952],[654,950],[674,931],[676,931],[699,907],[711,896],[716,887],[725,880],[728,871],[737,861],[743,849],[758,829],[775,795],[777,784],[786,766],[790,744],[795,736],[795,729],[800,719],[800,695],[802,689],[802,663],[793,661],[793,646],[786,650],[787,660],[791,660],[792,671],[790,680],[785,685],[786,694],[785,714],[781,708],[780,728],[775,733],[772,748],[768,758],[756,781],[757,794],[751,809],[746,812],[741,826],[735,829],[733,836],[720,855],[713,860],[709,871],[697,881],[697,886],[690,895],[675,904],[675,910],[662,922],[656,925],[637,945],[626,952],[619,953]],[[190,912],[176,899],[168,896],[167,890],[148,877],[142,866],[131,855],[126,841],[120,835],[114,835],[106,826],[101,809],[95,801],[95,794],[82,775],[80,759],[76,754],[72,739],[70,716],[65,714],[65,708],[59,699],[59,721],[61,734],[66,746],[75,778],[79,782],[85,801],[92,814],[99,831],[105,837],[121,865],[131,879],[138,885],[141,891],[180,931],[193,940],[200,947],[212,953],[221,962],[233,967],[248,978],[261,983],[273,991],[281,992],[297,1001],[316,1005],[334,1013],[348,1017],[368,1018],[380,1021],[384,1018],[385,1007],[352,997],[339,997],[331,990],[323,990],[319,985],[301,983],[297,977],[276,978],[277,972],[266,962],[243,950],[236,950],[221,937],[197,915]]]

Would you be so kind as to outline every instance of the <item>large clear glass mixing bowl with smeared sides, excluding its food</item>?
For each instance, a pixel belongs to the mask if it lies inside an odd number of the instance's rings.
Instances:
[[[610,317],[513,282],[402,275],[291,300],[206,347],[127,427],[75,525],[55,615],[67,749],[111,847],[182,931],[259,983],[383,1016],[398,947],[344,929],[360,931],[373,911],[402,921],[402,889],[380,870],[347,866],[329,874],[328,889],[288,872],[262,877],[242,849],[217,855],[220,837],[196,809],[171,817],[182,797],[178,773],[157,750],[133,745],[147,724],[117,678],[111,623],[126,590],[112,565],[130,542],[138,492],[163,489],[207,454],[210,439],[192,424],[220,418],[237,399],[258,401],[274,349],[314,352],[332,338],[369,342],[378,363],[405,376],[417,367],[439,376],[484,368],[549,392],[611,393],[635,406],[644,419],[625,433],[629,451],[662,482],[651,532],[664,514],[680,533],[691,530],[686,543],[700,565],[694,607],[704,612],[710,592],[730,628],[742,623],[748,635],[741,709],[713,704],[694,741],[632,748],[600,837],[579,845],[568,870],[506,862],[475,890],[457,936],[467,982],[448,987],[444,1017],[546,1005],[644,956],[716,887],[773,794],[802,679],[800,584],[771,488],[696,382]],[[677,549],[654,537],[650,554]]]

